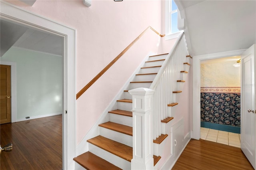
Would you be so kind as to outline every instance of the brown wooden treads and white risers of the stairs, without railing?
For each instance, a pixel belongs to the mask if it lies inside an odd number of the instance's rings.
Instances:
[[[109,121],[99,126],[100,135],[87,140],[89,151],[74,158],[80,166],[87,170],[105,170],[105,169],[131,169],[131,160],[133,156],[132,149],[132,95],[128,93],[130,89],[140,87],[149,88],[154,81],[158,71],[164,63],[167,54],[150,56],[144,66],[140,68],[134,80],[130,82],[128,89],[125,90],[124,99],[117,100],[116,110],[109,111]],[[190,58],[190,56],[187,56]],[[189,63],[184,63],[189,65]],[[186,66],[185,66],[186,67]],[[184,68],[185,68],[184,67]],[[177,83],[184,83],[188,69],[180,71],[180,80]],[[182,91],[173,91],[181,93]],[[178,103],[170,103],[168,107],[175,107]],[[168,124],[174,119],[166,117],[161,122]],[[154,166],[160,160],[161,156],[158,151],[160,144],[167,138],[168,134],[161,134],[153,140],[154,147]]]

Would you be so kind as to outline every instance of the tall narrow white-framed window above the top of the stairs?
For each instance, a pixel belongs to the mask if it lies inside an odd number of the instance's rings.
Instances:
[[[166,39],[176,38],[179,32],[178,8],[174,0],[166,0]]]

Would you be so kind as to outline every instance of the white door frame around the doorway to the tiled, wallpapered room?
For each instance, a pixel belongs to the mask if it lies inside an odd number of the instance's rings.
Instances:
[[[239,49],[235,51],[226,51],[222,53],[212,53],[207,55],[197,55],[193,56],[193,129],[192,129],[192,136],[191,138],[200,139],[200,127],[201,127],[201,118],[200,118],[200,79],[201,79],[201,70],[200,64],[201,60],[205,59],[217,59],[217,58],[224,58],[224,57],[231,57],[236,55],[241,55],[246,49]]]

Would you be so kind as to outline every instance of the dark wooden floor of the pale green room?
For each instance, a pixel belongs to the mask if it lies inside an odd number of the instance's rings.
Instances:
[[[62,115],[0,125],[1,170],[61,170]]]

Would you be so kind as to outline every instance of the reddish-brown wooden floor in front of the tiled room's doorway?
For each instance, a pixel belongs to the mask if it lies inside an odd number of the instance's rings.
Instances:
[[[240,148],[191,139],[172,170],[254,170]]]

